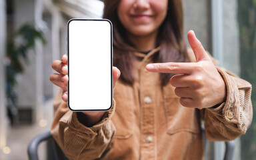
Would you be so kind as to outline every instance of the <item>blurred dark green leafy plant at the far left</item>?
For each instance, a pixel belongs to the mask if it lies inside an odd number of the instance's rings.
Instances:
[[[17,108],[15,107],[17,99],[15,91],[16,77],[24,71],[21,61],[29,63],[29,50],[35,48],[35,41],[37,40],[45,45],[46,41],[43,32],[31,24],[25,23],[17,30],[13,38],[7,42],[7,52],[4,61],[6,71],[5,91],[7,95],[7,115],[11,125],[13,125],[14,116],[17,115]]]

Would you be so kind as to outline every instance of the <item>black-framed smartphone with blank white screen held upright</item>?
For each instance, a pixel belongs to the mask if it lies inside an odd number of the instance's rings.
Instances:
[[[112,23],[68,22],[68,106],[72,111],[107,111],[113,105]]]

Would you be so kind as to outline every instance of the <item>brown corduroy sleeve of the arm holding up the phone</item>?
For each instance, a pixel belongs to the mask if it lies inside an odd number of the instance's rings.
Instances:
[[[61,100],[61,93],[54,103],[54,119],[51,134],[69,159],[97,159],[109,147],[115,133],[111,117],[115,112],[115,101],[111,110],[93,127],[85,127]]]

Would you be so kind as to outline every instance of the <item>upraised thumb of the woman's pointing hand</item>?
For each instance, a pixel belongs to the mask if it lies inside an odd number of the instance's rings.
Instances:
[[[193,52],[195,54],[195,59],[197,59],[197,62],[198,61],[211,61],[209,55],[207,55],[205,49],[203,48],[203,45],[195,36],[194,31],[191,30],[187,33],[187,39],[189,40],[189,45],[193,49]]]

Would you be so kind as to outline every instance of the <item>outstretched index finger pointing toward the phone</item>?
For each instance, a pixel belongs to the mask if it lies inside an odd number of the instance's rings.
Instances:
[[[146,66],[147,71],[159,73],[176,73],[190,75],[194,63],[151,63]]]

